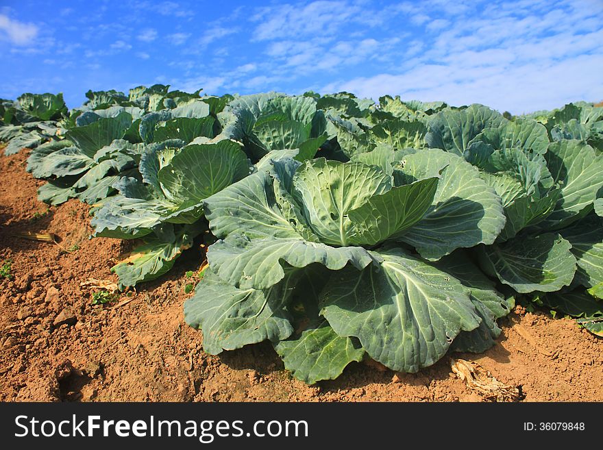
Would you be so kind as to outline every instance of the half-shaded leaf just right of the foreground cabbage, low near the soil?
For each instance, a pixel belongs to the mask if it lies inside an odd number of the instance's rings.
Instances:
[[[553,292],[576,273],[571,244],[555,233],[518,236],[480,249],[481,266],[517,292]]]

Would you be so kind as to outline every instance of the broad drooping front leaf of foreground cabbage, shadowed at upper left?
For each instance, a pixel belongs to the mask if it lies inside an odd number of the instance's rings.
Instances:
[[[395,371],[417,372],[481,319],[452,275],[400,249],[379,253],[380,265],[332,277],[321,313],[339,336],[356,336],[371,358]]]

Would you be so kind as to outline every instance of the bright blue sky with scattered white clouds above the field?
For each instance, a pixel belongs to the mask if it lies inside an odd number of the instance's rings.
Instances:
[[[603,100],[603,0],[0,1],[0,97],[154,83],[514,114]]]

